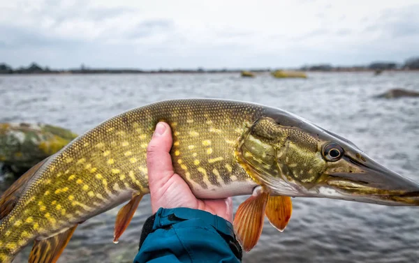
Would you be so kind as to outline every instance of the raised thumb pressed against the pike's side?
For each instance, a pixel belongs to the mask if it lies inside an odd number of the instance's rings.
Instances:
[[[174,174],[170,148],[172,134],[167,123],[157,123],[152,140],[147,146],[147,171],[150,193],[156,193]]]

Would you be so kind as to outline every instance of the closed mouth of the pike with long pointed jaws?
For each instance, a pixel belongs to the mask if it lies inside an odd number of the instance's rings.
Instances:
[[[323,183],[310,190],[318,197],[390,206],[419,206],[419,184],[365,156],[346,158],[355,172],[326,174]]]

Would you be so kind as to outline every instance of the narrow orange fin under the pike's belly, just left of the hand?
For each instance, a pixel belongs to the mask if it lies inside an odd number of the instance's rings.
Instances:
[[[117,220],[115,221],[114,243],[118,243],[119,237],[128,227],[141,199],[142,195],[133,195],[131,201],[119,210]]]

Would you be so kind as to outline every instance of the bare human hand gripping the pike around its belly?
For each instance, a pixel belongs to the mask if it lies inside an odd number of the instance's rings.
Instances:
[[[167,123],[157,123],[152,140],[147,146],[147,170],[152,212],[160,207],[188,207],[210,212],[233,222],[233,203],[223,200],[199,200],[179,174],[175,174],[170,157],[172,134]]]

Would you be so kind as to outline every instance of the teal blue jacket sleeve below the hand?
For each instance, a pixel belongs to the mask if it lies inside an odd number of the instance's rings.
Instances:
[[[142,228],[134,263],[242,260],[233,225],[212,213],[189,208],[159,209]]]

